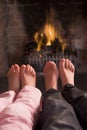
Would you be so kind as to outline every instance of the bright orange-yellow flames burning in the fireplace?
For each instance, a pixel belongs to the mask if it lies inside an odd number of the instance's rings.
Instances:
[[[62,44],[62,51],[64,51],[66,42],[60,31],[57,30],[52,23],[46,23],[43,29],[40,32],[36,32],[34,35],[34,39],[37,43],[37,51],[40,51],[41,47],[44,45],[51,46],[56,38],[59,40],[60,44]]]

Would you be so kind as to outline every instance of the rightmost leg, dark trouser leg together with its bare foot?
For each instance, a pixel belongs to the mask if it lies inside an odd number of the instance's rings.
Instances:
[[[74,86],[74,66],[68,59],[61,59],[59,72],[62,82],[62,95],[73,106],[83,128],[87,128],[87,94]]]

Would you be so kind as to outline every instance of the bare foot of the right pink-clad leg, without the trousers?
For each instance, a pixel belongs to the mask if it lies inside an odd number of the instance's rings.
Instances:
[[[30,65],[21,66],[21,83],[22,87],[25,85],[33,86],[36,85],[36,72]]]

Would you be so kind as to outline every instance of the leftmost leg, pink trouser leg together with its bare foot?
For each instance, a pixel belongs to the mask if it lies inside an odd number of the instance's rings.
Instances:
[[[9,91],[0,94],[0,112],[2,112],[9,104],[13,102],[16,96],[16,92],[19,91],[20,88],[19,72],[20,68],[17,64],[12,65],[12,67],[8,71],[7,77],[8,77]]]

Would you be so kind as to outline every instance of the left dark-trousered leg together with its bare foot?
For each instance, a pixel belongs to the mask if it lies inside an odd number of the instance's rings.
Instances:
[[[57,90],[58,70],[53,62],[44,68],[46,94],[43,97],[40,125],[42,130],[81,130],[75,113]]]

